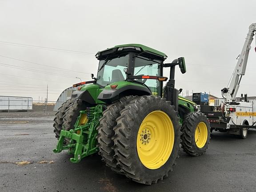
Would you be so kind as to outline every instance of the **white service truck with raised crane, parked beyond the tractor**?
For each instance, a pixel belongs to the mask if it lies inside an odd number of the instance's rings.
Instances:
[[[249,26],[249,32],[230,84],[227,88],[221,89],[221,94],[225,99],[224,102],[219,106],[200,106],[200,111],[208,117],[211,132],[212,130],[228,132],[245,139],[248,136],[248,129],[256,128],[256,100],[247,100],[247,94],[244,95],[244,100],[236,100],[236,94],[241,78],[245,74],[248,54],[255,33],[256,23],[253,23]]]

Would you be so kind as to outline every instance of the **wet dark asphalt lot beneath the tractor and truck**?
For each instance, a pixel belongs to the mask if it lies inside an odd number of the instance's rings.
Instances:
[[[181,152],[169,177],[147,186],[112,172],[98,155],[72,164],[66,152],[53,153],[52,120],[0,118],[0,192],[256,191],[256,130],[246,140],[213,132],[206,154],[190,157]],[[15,164],[21,161],[31,164]]]

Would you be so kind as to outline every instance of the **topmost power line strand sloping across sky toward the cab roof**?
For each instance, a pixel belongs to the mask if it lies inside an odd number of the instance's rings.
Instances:
[[[58,52],[70,52],[70,53],[78,53],[78,54],[85,54],[85,55],[94,55],[94,53],[91,53],[91,52],[81,52],[81,51],[74,51],[74,50],[68,50],[68,49],[36,46],[36,45],[30,45],[30,44],[12,43],[7,41],[0,41],[0,44],[7,44],[12,46],[20,46],[20,47],[27,47],[27,48],[37,48],[37,49],[44,49],[44,50],[51,50],[51,51],[58,51]]]

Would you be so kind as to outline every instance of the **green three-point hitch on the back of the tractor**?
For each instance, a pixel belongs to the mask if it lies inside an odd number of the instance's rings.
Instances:
[[[99,149],[96,147],[96,136],[98,132],[96,128],[99,125],[103,108],[105,108],[105,105],[99,104],[80,111],[80,116],[76,120],[74,129],[66,131],[63,128],[61,130],[60,138],[53,152],[59,153],[68,149],[68,153],[74,155],[73,158],[70,158],[72,163],[79,163],[84,157],[98,152]],[[68,141],[67,145],[64,145],[65,138]]]

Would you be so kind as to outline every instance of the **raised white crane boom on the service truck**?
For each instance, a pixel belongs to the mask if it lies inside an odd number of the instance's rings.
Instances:
[[[239,60],[237,61],[236,68],[232,74],[232,79],[228,88],[221,90],[222,95],[227,99],[227,102],[233,102],[236,100],[236,94],[239,89],[242,76],[245,74],[249,51],[253,36],[256,32],[256,23],[249,26],[249,32],[246,36],[243,49],[241,51]]]

